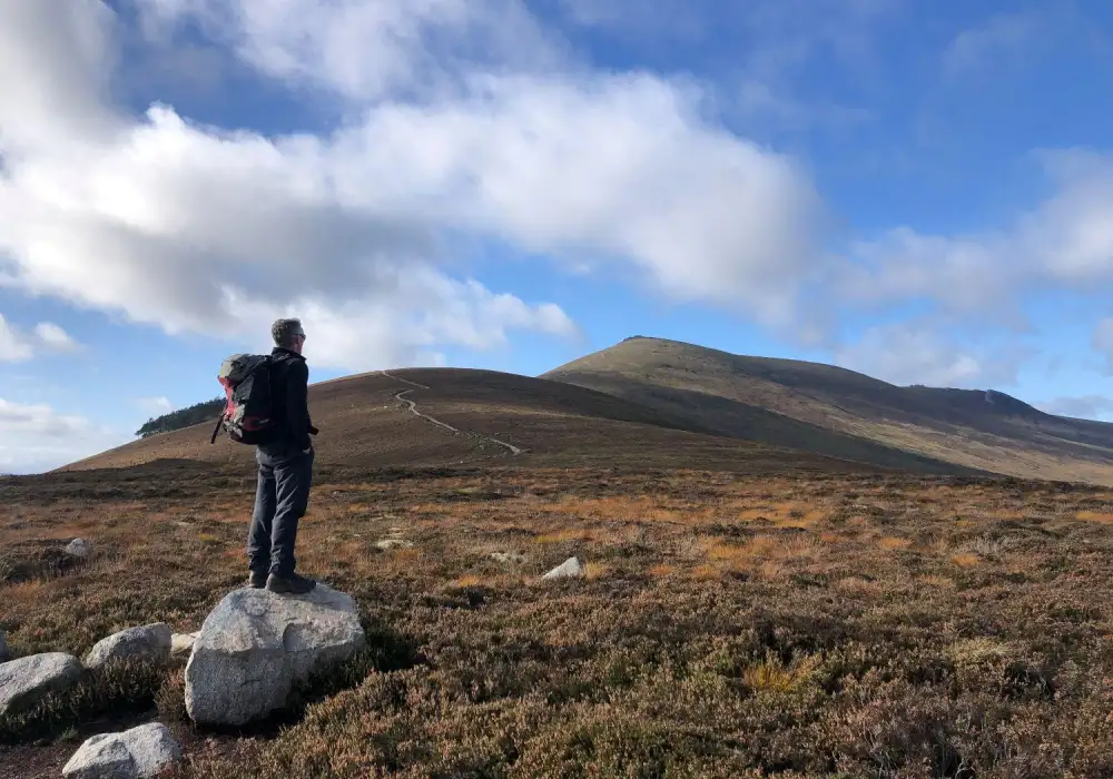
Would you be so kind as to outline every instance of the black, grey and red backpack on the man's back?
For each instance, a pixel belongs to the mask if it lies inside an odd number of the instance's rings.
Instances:
[[[270,405],[270,355],[234,354],[220,365],[217,381],[228,398],[213,430],[210,444],[220,428],[237,444],[265,444],[276,428]]]

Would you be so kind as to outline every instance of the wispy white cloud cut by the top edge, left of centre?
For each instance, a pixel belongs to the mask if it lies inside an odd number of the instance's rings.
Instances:
[[[260,71],[357,100],[459,86],[473,70],[561,63],[519,0],[144,0],[148,24],[199,22]]]

